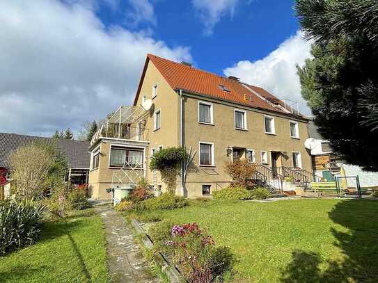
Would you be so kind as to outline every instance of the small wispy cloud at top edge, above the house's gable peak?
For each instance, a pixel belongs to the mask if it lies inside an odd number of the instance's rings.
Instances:
[[[109,1],[109,0],[108,0]],[[154,12],[154,6],[149,0],[129,0],[132,11],[127,12],[127,22],[132,26],[138,26],[141,22],[148,22],[156,25],[157,18]]]

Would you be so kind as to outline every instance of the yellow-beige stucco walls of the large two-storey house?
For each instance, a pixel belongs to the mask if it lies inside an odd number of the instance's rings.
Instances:
[[[152,97],[156,88],[156,96]],[[150,61],[145,70],[145,76],[141,83],[141,90],[136,105],[140,105],[144,99],[152,99],[152,108],[145,118],[145,127],[149,130],[148,143],[139,145],[145,148],[145,178],[149,184],[161,186],[165,189],[158,173],[148,169],[152,149],[159,147],[180,146],[181,116],[180,93],[169,86],[157,67]],[[183,124],[182,137],[184,145],[196,151],[194,158],[196,170],[189,172],[185,184],[184,195],[187,197],[200,197],[203,195],[203,185],[210,185],[211,191],[227,186],[230,176],[225,172],[226,162],[232,161],[233,154],[228,149],[253,149],[255,162],[261,163],[261,152],[267,152],[271,166],[271,152],[279,152],[277,165],[292,167],[292,152],[299,152],[301,167],[311,171],[310,155],[304,147],[304,141],[308,138],[307,121],[301,118],[290,117],[271,111],[263,111],[249,106],[242,106],[231,102],[222,101],[205,96],[182,92]],[[205,102],[212,105],[212,124],[198,122],[198,103]],[[235,109],[245,111],[246,129],[235,129]],[[154,113],[159,111],[160,128],[155,129]],[[274,118],[275,134],[265,133],[265,115]],[[299,137],[290,136],[290,121],[297,122]],[[109,198],[106,189],[111,187],[111,175],[116,169],[109,168],[110,146],[114,141],[102,140],[100,143],[99,168],[90,170],[90,192],[94,198]],[[201,166],[199,164],[199,143],[211,143],[213,148],[213,164]],[[117,143],[121,143],[117,141]],[[135,142],[137,143],[137,142]],[[135,143],[132,143],[135,146]],[[124,143],[125,144],[125,143]],[[91,167],[92,168],[92,167]],[[177,182],[176,193],[180,195],[180,177]]]

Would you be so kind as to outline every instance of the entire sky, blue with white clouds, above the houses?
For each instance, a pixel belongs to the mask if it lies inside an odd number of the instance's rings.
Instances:
[[[310,57],[289,0],[0,1],[0,131],[50,136],[134,99],[148,53],[299,103]]]

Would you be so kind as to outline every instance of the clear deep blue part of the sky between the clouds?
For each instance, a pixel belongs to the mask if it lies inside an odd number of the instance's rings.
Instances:
[[[97,15],[108,27],[150,29],[155,39],[171,47],[189,46],[197,67],[219,74],[239,60],[264,58],[299,29],[291,0],[237,1],[233,15],[220,17],[211,35],[205,35],[203,20],[191,1],[150,3],[155,11],[154,23],[144,20],[130,24],[125,19],[125,10],[132,10],[128,1],[120,3],[117,10],[103,3]]]

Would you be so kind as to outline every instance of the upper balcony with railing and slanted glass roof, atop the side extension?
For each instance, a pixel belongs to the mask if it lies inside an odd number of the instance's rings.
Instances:
[[[145,118],[149,110],[145,106],[120,106],[93,135],[90,147],[102,138],[148,142]]]

